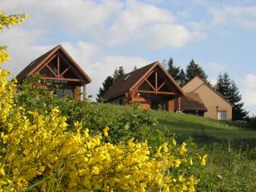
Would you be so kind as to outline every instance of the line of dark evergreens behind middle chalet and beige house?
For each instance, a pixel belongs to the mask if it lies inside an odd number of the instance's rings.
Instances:
[[[179,86],[184,86],[187,82],[190,82],[191,79],[198,76],[202,78],[203,81],[208,83],[214,89],[218,90],[229,102],[231,102],[234,107],[232,110],[232,120],[248,120],[249,112],[244,109],[244,103],[242,102],[242,94],[238,90],[234,80],[232,80],[226,72],[224,74],[219,74],[216,85],[211,85],[208,81],[208,76],[203,70],[202,66],[194,62],[194,59],[186,66],[186,70],[183,70],[180,66],[174,64],[174,59],[169,58],[164,60],[162,65],[165,66],[166,70],[178,82]],[[134,67],[134,70],[137,70],[137,67]],[[98,91],[98,102],[102,102],[102,95],[106,93],[106,90],[109,90],[113,86],[114,82],[121,78],[125,74],[125,70],[122,66],[119,66],[114,70],[114,74],[109,75],[104,82],[102,82],[102,87]]]

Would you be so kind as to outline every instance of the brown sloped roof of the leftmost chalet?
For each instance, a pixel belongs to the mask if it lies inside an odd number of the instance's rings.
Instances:
[[[47,61],[51,56],[53,56],[58,50],[62,50],[62,52],[66,55],[67,58],[70,59],[70,61],[74,64],[76,69],[82,74],[82,78],[85,78],[86,81],[91,82],[91,79],[89,76],[82,70],[80,66],[78,66],[78,63],[74,61],[73,58],[71,58],[70,54],[64,50],[64,48],[61,45],[55,46],[53,49],[47,51],[45,54],[42,54],[40,57],[34,59],[34,61],[30,62],[28,66],[26,66],[17,76],[18,82],[22,82],[22,80],[28,76],[31,76],[35,73],[36,70],[40,66],[43,65],[44,62]]]

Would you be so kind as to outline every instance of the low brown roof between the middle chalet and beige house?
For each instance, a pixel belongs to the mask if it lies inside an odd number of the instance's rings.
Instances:
[[[197,93],[187,93],[185,97],[181,98],[181,106],[184,111],[207,111],[206,106],[202,102],[199,94]]]

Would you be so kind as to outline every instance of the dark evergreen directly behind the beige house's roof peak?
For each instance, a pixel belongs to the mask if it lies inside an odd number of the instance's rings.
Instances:
[[[186,82],[189,82],[195,76],[198,76],[207,81],[206,72],[202,69],[201,66],[194,62],[194,59],[192,59],[190,64],[186,66]]]

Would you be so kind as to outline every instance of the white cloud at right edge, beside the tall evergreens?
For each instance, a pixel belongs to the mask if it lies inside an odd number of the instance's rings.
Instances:
[[[256,74],[246,74],[242,79],[242,101],[245,106],[256,106]]]

